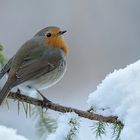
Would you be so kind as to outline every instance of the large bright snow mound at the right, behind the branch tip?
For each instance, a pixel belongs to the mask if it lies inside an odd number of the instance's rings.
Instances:
[[[140,60],[109,74],[88,104],[101,115],[119,117],[124,123],[121,140],[140,140]]]

